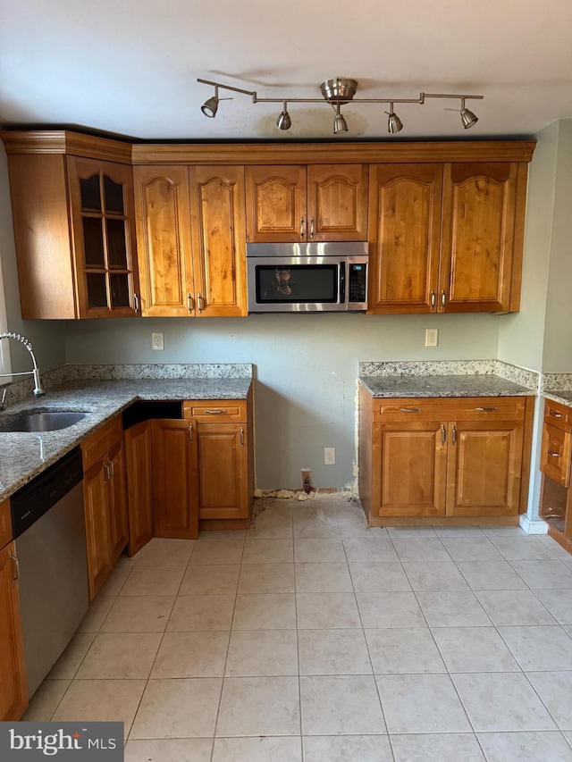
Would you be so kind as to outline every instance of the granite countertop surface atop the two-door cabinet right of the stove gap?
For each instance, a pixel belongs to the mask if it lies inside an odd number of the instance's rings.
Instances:
[[[379,375],[360,376],[374,398],[534,397],[535,392],[501,376]]]

